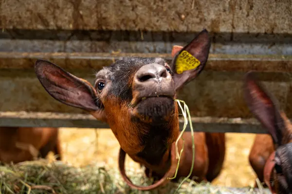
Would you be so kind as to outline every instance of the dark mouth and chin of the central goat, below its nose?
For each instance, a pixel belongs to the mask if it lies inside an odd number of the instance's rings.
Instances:
[[[142,97],[132,106],[132,115],[146,123],[167,121],[174,112],[174,99],[171,96]]]

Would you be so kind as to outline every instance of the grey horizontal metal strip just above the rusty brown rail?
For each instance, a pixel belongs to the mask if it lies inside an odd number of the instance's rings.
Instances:
[[[152,36],[151,36],[152,37]],[[0,52],[43,52],[43,53],[171,53],[173,45],[186,45],[194,38],[185,40],[27,40],[1,39]],[[170,39],[170,38],[169,38]],[[252,38],[251,38],[252,39]],[[272,39],[272,38],[271,38]],[[285,42],[284,42],[285,41]],[[284,43],[283,43],[284,42]],[[213,41],[210,48],[213,54],[283,54],[292,55],[292,37],[261,42],[219,42]]]

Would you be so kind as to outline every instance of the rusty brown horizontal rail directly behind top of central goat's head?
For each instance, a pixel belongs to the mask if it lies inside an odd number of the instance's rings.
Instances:
[[[37,58],[49,59],[66,70],[95,69],[123,57],[162,57],[168,53],[19,53],[0,52],[0,69],[32,69]],[[292,72],[291,55],[210,54],[205,70]]]

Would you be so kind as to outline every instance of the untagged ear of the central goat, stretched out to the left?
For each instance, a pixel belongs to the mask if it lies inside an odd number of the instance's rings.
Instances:
[[[35,71],[41,85],[61,103],[88,111],[99,109],[96,91],[86,80],[45,60],[37,60]]]

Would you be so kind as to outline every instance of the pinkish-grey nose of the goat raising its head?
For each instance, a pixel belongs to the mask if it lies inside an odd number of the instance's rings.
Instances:
[[[169,76],[168,74],[164,66],[159,64],[148,64],[137,71],[136,82],[147,82],[149,80],[160,81],[161,78]]]

